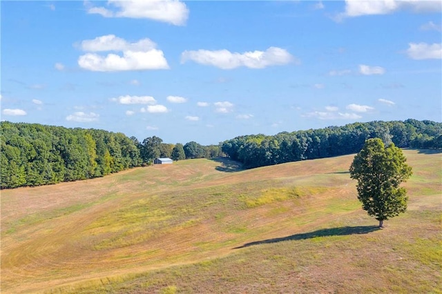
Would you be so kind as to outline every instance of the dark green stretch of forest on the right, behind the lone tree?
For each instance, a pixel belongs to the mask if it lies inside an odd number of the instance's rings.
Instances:
[[[358,153],[365,140],[380,138],[400,148],[442,148],[442,124],[434,121],[372,121],[316,130],[246,135],[224,141],[222,152],[245,168]]]

